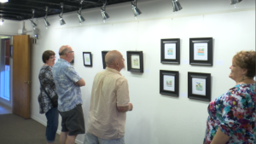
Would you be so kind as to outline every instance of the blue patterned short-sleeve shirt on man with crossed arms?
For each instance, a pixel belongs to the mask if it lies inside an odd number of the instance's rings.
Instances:
[[[53,66],[52,73],[56,92],[59,96],[58,110],[66,112],[79,104],[83,104],[81,89],[75,85],[81,78],[73,66],[67,60],[59,59]]]

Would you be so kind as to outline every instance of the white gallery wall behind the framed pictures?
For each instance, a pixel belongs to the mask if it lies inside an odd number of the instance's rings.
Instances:
[[[84,120],[88,122],[90,90],[96,72],[102,71],[102,50],[118,49],[126,59],[127,50],[143,50],[144,73],[122,70],[128,79],[132,112],[127,112],[126,144],[202,143],[207,120],[207,101],[187,97],[160,95],[160,70],[179,71],[179,94],[188,93],[188,72],[212,74],[212,100],[235,85],[228,75],[231,59],[242,49],[255,48],[255,1],[247,0],[234,9],[230,1],[181,1],[183,9],[172,13],[170,0],[139,1],[143,12],[134,20],[131,3],[107,7],[110,18],[104,24],[99,8],[83,10],[86,21],[82,26],[75,12],[63,14],[67,25],[60,26],[58,15],[49,16],[51,26],[44,28],[43,19],[37,19],[40,30],[38,43],[32,48],[32,118],[46,124],[39,114],[38,72],[43,65],[44,50],[58,52],[63,44],[75,51],[74,68],[84,78],[82,87]],[[31,27],[26,20],[26,29]],[[181,40],[181,64],[160,63],[160,39],[178,37]],[[213,66],[190,66],[189,37],[213,37]],[[93,54],[93,67],[84,67],[83,51]],[[58,56],[58,55],[57,55]],[[216,60],[224,62],[217,65]],[[61,118],[60,118],[61,123]],[[61,130],[61,126],[59,126]],[[79,135],[78,142],[84,141]]]

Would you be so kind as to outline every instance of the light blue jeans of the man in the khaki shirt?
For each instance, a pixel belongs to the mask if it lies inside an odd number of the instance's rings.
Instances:
[[[119,139],[107,140],[92,135],[87,131],[84,135],[84,144],[125,144],[125,136]]]

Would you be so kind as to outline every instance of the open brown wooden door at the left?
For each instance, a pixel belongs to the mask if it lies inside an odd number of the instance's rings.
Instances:
[[[30,118],[30,37],[13,37],[13,113]]]

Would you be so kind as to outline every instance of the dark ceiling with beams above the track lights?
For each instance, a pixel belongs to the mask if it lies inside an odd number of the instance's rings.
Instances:
[[[105,0],[84,0],[82,9],[100,8]],[[131,0],[108,0],[107,5],[126,3]],[[45,7],[48,15],[60,14],[61,3],[64,3],[63,13],[79,10],[80,0],[9,0],[0,3],[0,18],[4,20],[27,20],[32,18],[32,9],[35,9],[34,18],[44,17]]]

